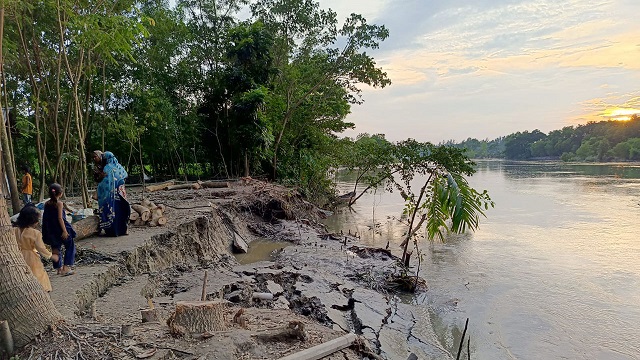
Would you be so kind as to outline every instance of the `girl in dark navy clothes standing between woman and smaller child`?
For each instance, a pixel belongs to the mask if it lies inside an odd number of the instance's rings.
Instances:
[[[76,245],[73,239],[76,232],[67,222],[64,214],[64,204],[60,200],[62,197],[62,187],[53,183],[49,186],[50,199],[44,204],[44,214],[42,215],[42,235],[45,244],[51,246],[54,254],[59,256],[58,261],[53,262],[53,268],[59,275],[73,275],[71,268],[76,258]],[[64,245],[64,256],[61,249]],[[63,266],[64,259],[64,266]]]

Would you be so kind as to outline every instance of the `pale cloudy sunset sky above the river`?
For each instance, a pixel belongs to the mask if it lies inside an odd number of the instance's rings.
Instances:
[[[390,36],[344,135],[495,139],[640,113],[640,0],[319,0]]]

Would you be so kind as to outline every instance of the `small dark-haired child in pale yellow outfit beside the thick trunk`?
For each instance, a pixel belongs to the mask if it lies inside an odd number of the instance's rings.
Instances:
[[[46,292],[51,291],[51,282],[49,276],[44,270],[40,256],[51,259],[53,262],[57,262],[58,255],[51,254],[49,250],[44,246],[42,242],[42,233],[36,230],[40,220],[40,212],[33,205],[27,205],[20,210],[18,215],[18,227],[15,229],[16,240],[18,240],[18,247],[24,256],[24,260],[31,268],[31,272],[38,279],[38,282],[42,285]],[[36,252],[37,250],[37,252]],[[38,255],[40,253],[40,255]]]

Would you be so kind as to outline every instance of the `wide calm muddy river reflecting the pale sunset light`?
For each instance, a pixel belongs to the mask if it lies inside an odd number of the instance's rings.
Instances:
[[[423,240],[429,290],[409,300],[429,309],[443,346],[455,356],[469,318],[472,359],[640,359],[640,164],[477,170],[469,182],[495,208],[473,234]],[[337,180],[352,190],[352,176]],[[398,249],[402,206],[379,190],[327,225]]]

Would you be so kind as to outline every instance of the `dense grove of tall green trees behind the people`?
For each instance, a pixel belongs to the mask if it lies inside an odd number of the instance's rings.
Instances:
[[[310,0],[3,4],[15,164],[36,188],[58,181],[85,201],[93,149],[114,152],[132,181],[145,169],[326,189],[360,86],[390,84],[367,53],[387,29],[356,14],[340,23]]]

